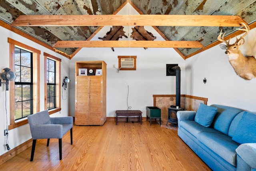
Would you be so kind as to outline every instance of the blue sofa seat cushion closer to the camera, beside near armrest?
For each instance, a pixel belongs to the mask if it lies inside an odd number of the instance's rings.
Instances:
[[[197,135],[198,141],[236,167],[236,148],[240,145],[225,134],[201,132]]]

